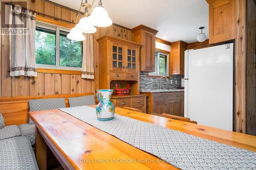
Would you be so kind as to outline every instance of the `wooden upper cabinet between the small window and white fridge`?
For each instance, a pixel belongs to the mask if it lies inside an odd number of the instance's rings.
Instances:
[[[184,57],[187,43],[175,41],[170,44],[170,75],[184,75]]]

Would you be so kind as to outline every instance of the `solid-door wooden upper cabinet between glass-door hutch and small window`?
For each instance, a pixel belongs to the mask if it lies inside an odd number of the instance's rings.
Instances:
[[[144,25],[140,25],[132,29],[133,41],[142,44],[140,49],[140,71],[155,71],[157,32],[157,30]]]

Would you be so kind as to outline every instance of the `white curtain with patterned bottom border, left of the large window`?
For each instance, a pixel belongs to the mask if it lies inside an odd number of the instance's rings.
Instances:
[[[9,10],[10,76],[36,77],[35,13],[11,5]]]

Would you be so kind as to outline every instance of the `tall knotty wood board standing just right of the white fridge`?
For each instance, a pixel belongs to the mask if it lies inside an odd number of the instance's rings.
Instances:
[[[236,39],[234,42],[235,131],[246,133],[246,0],[236,0]]]

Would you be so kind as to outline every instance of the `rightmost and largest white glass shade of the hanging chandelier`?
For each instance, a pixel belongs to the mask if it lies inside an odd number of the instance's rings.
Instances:
[[[90,17],[93,25],[96,27],[109,27],[112,25],[108,12],[101,5],[94,8]]]

